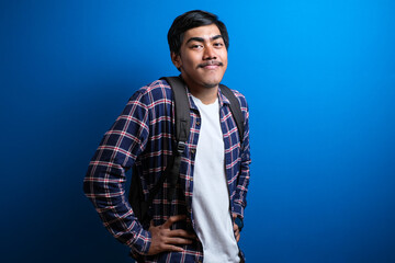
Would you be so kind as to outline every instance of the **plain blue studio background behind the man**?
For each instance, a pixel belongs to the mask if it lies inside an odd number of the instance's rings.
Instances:
[[[249,262],[395,262],[395,3],[0,2],[1,262],[129,262],[82,194],[139,87],[177,75],[189,10],[230,35],[224,83],[251,115]]]

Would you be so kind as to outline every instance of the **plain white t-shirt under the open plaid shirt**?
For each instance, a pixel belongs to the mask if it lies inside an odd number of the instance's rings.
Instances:
[[[202,119],[193,172],[192,211],[196,235],[203,244],[203,261],[239,262],[229,210],[219,103],[216,100],[205,105],[196,98],[193,101]]]

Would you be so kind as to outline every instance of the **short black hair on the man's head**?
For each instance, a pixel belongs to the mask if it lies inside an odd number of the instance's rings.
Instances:
[[[168,43],[171,53],[180,54],[184,33],[191,28],[215,24],[224,39],[226,49],[229,47],[229,36],[226,26],[218,16],[202,10],[193,10],[177,16],[168,32]]]

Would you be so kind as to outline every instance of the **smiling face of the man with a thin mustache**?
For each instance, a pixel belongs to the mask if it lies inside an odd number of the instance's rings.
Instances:
[[[174,66],[191,89],[215,88],[227,67],[227,49],[215,24],[184,33],[180,54],[171,54]]]

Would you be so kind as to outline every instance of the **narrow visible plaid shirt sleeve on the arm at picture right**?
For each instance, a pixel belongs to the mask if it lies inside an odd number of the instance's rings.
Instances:
[[[245,123],[244,123],[244,139],[241,145],[241,169],[238,176],[238,184],[236,188],[235,196],[235,208],[234,213],[237,214],[240,218],[244,218],[244,209],[247,206],[247,191],[250,180],[250,144],[249,144],[249,110],[245,98],[238,94],[240,101],[241,111],[244,113]]]

